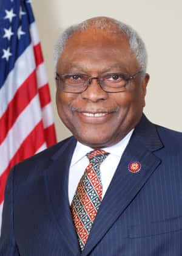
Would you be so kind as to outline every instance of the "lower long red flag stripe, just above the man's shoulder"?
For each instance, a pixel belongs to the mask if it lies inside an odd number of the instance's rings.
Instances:
[[[20,148],[18,151],[16,151],[16,154],[10,160],[10,163],[8,167],[5,169],[3,174],[0,177],[0,204],[4,200],[4,188],[5,188],[5,182],[7,180],[8,173],[10,169],[13,167],[13,165],[16,165],[17,163],[21,162],[27,157],[31,157],[33,154],[35,154],[36,151],[44,144],[44,132],[43,132],[43,125],[42,121],[40,121],[35,128],[32,130],[32,132],[29,134],[27,138],[22,142]]]

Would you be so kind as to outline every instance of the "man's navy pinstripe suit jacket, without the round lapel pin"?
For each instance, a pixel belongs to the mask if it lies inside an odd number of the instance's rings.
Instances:
[[[182,255],[182,133],[143,115],[82,254],[70,214],[70,137],[16,165],[5,188],[1,256]],[[129,171],[138,161],[141,170]]]

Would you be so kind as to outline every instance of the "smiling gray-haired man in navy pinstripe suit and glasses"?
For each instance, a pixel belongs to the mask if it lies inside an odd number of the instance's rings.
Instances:
[[[56,104],[73,137],[10,172],[1,255],[182,254],[182,134],[143,115],[146,59],[110,18],[64,32]]]

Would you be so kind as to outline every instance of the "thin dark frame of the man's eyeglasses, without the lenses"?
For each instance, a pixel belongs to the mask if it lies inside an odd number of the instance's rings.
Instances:
[[[127,82],[126,82],[126,84],[125,85],[123,85],[121,88],[123,88],[123,87],[126,87],[126,85],[132,80],[132,79],[135,79],[135,77],[137,77],[137,76],[139,76],[140,74],[142,74],[142,73],[144,73],[144,71],[143,70],[140,70],[138,73],[136,73],[136,74],[134,74],[133,76],[130,76],[128,79],[127,79]],[[102,88],[102,90],[103,91],[106,91],[106,90],[104,90],[103,89],[103,87],[102,87],[102,85],[101,85],[101,83],[100,83],[100,79],[101,79],[101,76],[106,76],[106,75],[113,75],[113,76],[115,76],[115,75],[123,75],[123,74],[127,74],[127,73],[109,73],[109,74],[101,74],[101,75],[99,75],[98,77],[89,77],[89,75],[87,75],[87,74],[79,74],[79,73],[73,73],[73,74],[58,74],[58,73],[56,73],[56,77],[55,77],[55,80],[56,81],[58,81],[58,80],[60,80],[61,78],[63,78],[64,79],[64,77],[66,77],[66,76],[74,76],[74,75],[80,75],[80,76],[87,76],[88,77],[88,84],[86,85],[86,88],[83,90],[83,91],[79,91],[79,92],[72,92],[72,91],[65,91],[65,90],[62,90],[62,88],[60,89],[61,91],[64,91],[65,93],[83,93],[84,91],[86,91],[87,90],[87,88],[89,87],[89,85],[92,83],[92,79],[96,79],[97,80],[97,83],[99,84],[99,86]],[[59,82],[58,82],[59,83]],[[121,93],[121,92],[123,92],[123,90],[122,91],[106,91],[106,93]]]

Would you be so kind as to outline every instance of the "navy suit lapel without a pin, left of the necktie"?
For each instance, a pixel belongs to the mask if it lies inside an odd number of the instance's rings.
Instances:
[[[73,226],[68,199],[68,176],[76,140],[71,138],[52,157],[52,164],[45,171],[45,188],[50,215],[73,255],[80,255],[78,238]]]

